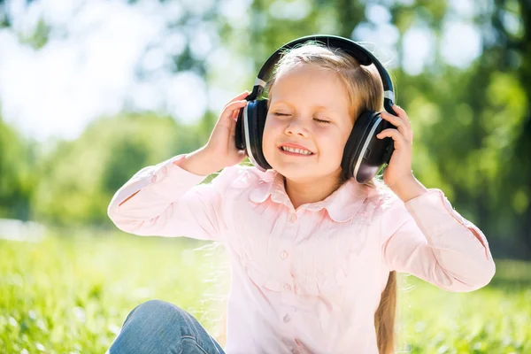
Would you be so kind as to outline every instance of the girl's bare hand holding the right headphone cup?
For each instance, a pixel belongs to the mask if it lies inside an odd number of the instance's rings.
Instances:
[[[381,118],[389,121],[396,129],[384,129],[376,136],[379,139],[391,137],[395,141],[395,150],[389,165],[383,171],[383,181],[395,191],[400,190],[401,185],[411,184],[415,177],[412,173],[412,126],[402,108],[394,104],[393,110],[396,116],[384,111],[381,112]]]

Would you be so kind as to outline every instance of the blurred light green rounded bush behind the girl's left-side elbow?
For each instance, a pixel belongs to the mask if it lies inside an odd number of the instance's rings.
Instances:
[[[169,117],[98,119],[73,142],[58,142],[40,165],[35,218],[58,225],[105,224],[112,195],[137,171],[197,149],[196,128]]]

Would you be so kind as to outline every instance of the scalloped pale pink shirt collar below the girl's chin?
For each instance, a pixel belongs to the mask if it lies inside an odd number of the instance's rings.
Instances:
[[[271,200],[275,203],[293,208],[284,188],[284,176],[274,170],[265,173],[258,186],[250,192],[249,199],[254,203],[264,203],[268,196],[271,196]],[[325,209],[331,219],[344,222],[356,215],[366,197],[366,186],[351,178],[324,200],[304,204],[304,208],[313,212]]]

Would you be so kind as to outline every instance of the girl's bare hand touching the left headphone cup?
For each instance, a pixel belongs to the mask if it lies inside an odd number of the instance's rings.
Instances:
[[[245,150],[236,148],[235,135],[238,112],[247,104],[247,96],[249,92],[244,91],[225,105],[216,126],[212,129],[210,139],[204,146],[204,152],[215,161],[218,170],[239,164],[246,156]]]

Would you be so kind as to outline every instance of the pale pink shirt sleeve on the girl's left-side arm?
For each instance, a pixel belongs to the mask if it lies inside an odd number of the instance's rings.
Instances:
[[[224,169],[211,182],[179,166],[184,155],[148,166],[136,173],[112,197],[109,218],[135,235],[187,236],[222,241],[221,196],[235,167]]]

